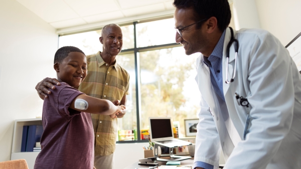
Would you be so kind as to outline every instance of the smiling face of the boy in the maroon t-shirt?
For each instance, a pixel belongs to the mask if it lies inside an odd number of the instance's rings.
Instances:
[[[70,52],[61,63],[54,64],[54,69],[59,81],[77,87],[87,75],[86,56],[81,52]]]

